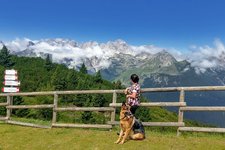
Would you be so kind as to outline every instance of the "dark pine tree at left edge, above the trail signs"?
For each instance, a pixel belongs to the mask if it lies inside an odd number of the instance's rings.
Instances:
[[[4,45],[0,51],[0,65],[4,66],[5,68],[12,67],[14,63],[11,60],[11,55],[9,54],[9,50]]]

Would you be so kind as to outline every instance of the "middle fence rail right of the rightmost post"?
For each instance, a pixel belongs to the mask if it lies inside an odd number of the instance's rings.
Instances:
[[[225,111],[225,107],[205,107],[205,106],[190,106],[190,107],[181,107],[181,111]]]

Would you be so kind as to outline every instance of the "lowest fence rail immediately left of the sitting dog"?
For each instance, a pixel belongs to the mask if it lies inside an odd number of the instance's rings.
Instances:
[[[111,129],[112,128],[112,125],[104,125],[104,124],[63,124],[63,123],[53,123],[52,124],[52,127]]]

